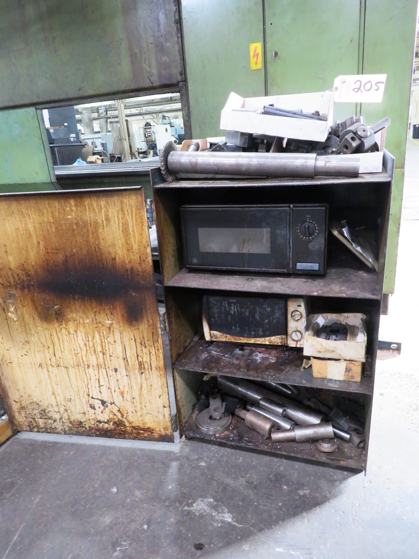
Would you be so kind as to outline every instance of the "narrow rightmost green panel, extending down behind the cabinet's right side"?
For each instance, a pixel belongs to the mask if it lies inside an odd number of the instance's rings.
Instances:
[[[396,158],[385,259],[384,292],[394,292],[402,214],[404,158],[412,86],[417,0],[366,0],[363,73],[387,73],[383,102],[362,105],[366,122],[391,119],[385,148]]]

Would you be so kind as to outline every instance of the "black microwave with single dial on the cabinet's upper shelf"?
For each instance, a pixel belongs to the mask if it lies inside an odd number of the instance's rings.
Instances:
[[[326,272],[327,206],[181,206],[189,269]]]

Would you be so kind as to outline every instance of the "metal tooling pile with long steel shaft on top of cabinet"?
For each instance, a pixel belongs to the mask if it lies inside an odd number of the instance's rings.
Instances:
[[[268,109],[278,117],[325,119],[315,113],[287,111],[284,115],[284,110],[277,107],[263,108],[264,111]],[[389,124],[386,117],[373,126],[366,126],[363,115],[351,116],[342,122],[336,121],[323,142],[232,130],[227,130],[221,141],[206,140],[204,149],[199,141],[193,141],[187,150],[178,151],[169,141],[160,153],[161,173],[167,182],[188,178],[191,174],[211,177],[358,177],[360,155],[380,150],[375,134]],[[345,157],[338,157],[340,155]]]

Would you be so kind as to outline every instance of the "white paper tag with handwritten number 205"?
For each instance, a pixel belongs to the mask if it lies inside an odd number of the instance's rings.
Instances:
[[[333,84],[335,103],[381,103],[387,74],[339,75]]]

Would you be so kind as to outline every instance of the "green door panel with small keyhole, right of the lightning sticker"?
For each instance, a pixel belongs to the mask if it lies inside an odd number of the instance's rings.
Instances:
[[[360,0],[266,0],[265,6],[268,95],[326,91],[338,75],[362,74]],[[355,103],[334,106],[335,120],[355,113]]]

